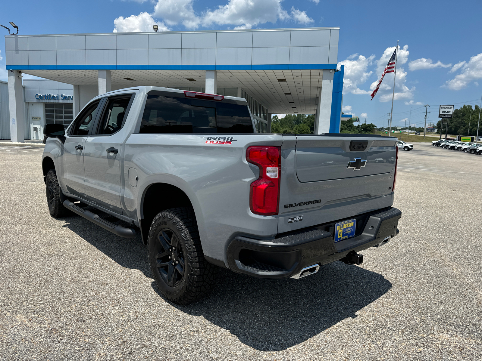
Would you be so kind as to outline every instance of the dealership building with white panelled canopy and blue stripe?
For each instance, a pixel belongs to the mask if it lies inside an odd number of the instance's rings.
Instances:
[[[315,114],[316,134],[337,133],[338,36],[338,27],[6,36],[0,138],[42,139],[45,123],[67,126],[94,96],[143,85],[243,97],[258,132],[270,132],[271,114]]]

